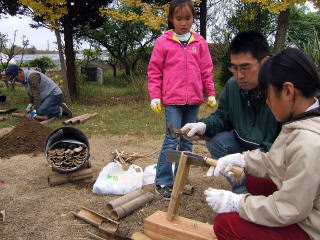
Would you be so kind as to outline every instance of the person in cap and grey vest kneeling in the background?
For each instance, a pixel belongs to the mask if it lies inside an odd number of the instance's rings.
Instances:
[[[17,65],[6,69],[10,80],[18,81],[26,88],[30,102],[26,108],[29,117],[36,115],[51,117],[72,117],[72,112],[63,103],[61,89],[45,74],[35,70],[23,70]]]

